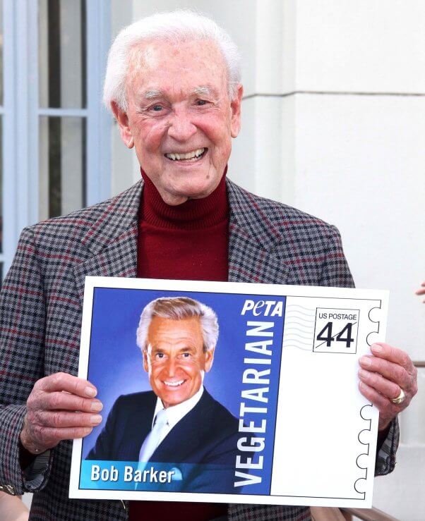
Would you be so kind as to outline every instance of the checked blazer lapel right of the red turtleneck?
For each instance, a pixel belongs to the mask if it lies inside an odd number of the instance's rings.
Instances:
[[[285,284],[289,270],[275,251],[280,238],[254,197],[227,180],[229,277],[231,282]]]

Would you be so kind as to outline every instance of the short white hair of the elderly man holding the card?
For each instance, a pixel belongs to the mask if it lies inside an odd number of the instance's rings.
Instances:
[[[130,51],[145,40],[152,39],[172,43],[187,40],[215,42],[227,66],[229,96],[234,98],[241,81],[241,60],[236,44],[225,30],[207,16],[181,10],[141,18],[119,32],[109,49],[104,78],[103,102],[107,108],[110,108],[111,102],[116,102],[121,110],[127,110],[126,77]]]

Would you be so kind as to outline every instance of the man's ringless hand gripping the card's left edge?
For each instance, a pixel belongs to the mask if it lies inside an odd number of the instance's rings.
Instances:
[[[100,424],[102,402],[95,386],[71,374],[56,373],[35,382],[28,396],[20,442],[32,454],[59,441],[83,438]]]

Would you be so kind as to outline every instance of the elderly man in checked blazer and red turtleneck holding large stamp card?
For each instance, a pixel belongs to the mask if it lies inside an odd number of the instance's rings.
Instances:
[[[240,127],[239,81],[236,47],[207,18],[165,13],[126,27],[109,54],[104,99],[124,143],[136,149],[143,180],[21,235],[0,308],[0,484],[10,494],[37,492],[33,519],[128,517],[119,501],[67,498],[71,440],[100,423],[102,408],[94,386],[73,376],[85,275],[353,286],[335,227],[226,180]],[[359,386],[380,412],[376,473],[385,474],[416,372],[397,348],[371,351]],[[187,508],[186,517],[199,520],[309,518],[298,507]],[[175,519],[179,511],[131,503],[129,515]]]

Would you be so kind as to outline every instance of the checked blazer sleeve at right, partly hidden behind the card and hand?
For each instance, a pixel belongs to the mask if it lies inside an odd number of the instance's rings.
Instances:
[[[341,235],[335,226],[330,226],[320,286],[354,288],[354,280],[349,270],[344,251],[342,250]],[[396,417],[390,424],[387,437],[383,440],[381,446],[377,447],[375,463],[376,476],[393,472],[399,438],[400,428]]]

